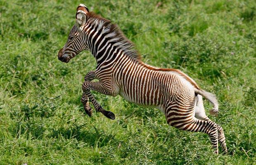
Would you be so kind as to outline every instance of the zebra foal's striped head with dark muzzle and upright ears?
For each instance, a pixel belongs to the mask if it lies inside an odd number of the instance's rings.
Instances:
[[[85,35],[83,35],[84,32],[82,31],[86,24],[86,14],[88,12],[88,8],[83,4],[77,7],[76,24],[71,28],[66,44],[58,52],[58,59],[60,61],[68,63],[70,59],[83,50],[89,50]]]

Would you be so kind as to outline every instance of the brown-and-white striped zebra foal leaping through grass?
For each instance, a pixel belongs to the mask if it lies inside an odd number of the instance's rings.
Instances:
[[[89,50],[97,61],[95,71],[84,76],[82,85],[81,102],[89,116],[92,115],[90,100],[96,111],[115,119],[115,114],[104,110],[91,90],[113,97],[121,95],[135,104],[158,108],[167,123],[175,128],[209,134],[214,152],[218,154],[220,143],[222,151],[228,153],[223,128],[210,120],[204,110],[202,97],[213,104],[210,113],[218,113],[215,95],[201,90],[178,69],[158,68],[142,62],[134,44],[116,24],[80,4],[76,9],[76,23],[59,50],[58,59],[68,63],[83,50]],[[92,81],[94,79],[99,81]]]

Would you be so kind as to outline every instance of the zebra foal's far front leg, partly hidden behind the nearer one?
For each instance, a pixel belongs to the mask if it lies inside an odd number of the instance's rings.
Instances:
[[[85,81],[92,81],[94,79],[95,79],[95,71],[89,71],[84,77]],[[83,92],[82,94],[81,102],[83,103],[83,108],[85,110],[85,113],[91,117],[92,108],[89,105],[89,99],[85,92]]]

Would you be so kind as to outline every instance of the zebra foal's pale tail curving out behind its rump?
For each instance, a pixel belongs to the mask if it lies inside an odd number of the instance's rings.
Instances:
[[[210,110],[210,113],[212,115],[218,115],[218,100],[216,99],[215,95],[210,93],[210,92],[206,92],[204,90],[201,89],[195,89],[194,90],[195,93],[200,94],[201,96],[205,97],[207,100],[210,101],[211,104],[213,104],[213,109]]]

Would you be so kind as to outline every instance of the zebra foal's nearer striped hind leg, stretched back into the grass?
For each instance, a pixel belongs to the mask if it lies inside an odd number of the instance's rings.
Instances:
[[[214,152],[218,154],[218,130],[217,130],[218,125],[215,122],[199,120],[194,117],[190,119],[189,118],[184,119],[184,117],[182,116],[170,118],[170,119],[171,120],[167,120],[168,124],[180,130],[185,130],[190,132],[204,132],[206,134],[209,134]]]

